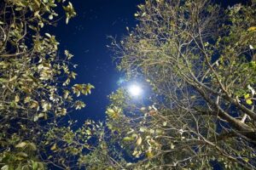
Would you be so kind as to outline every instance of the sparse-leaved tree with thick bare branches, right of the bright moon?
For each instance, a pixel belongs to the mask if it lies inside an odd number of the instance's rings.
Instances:
[[[118,68],[145,77],[151,105],[125,90],[107,110],[113,139],[141,161],[131,169],[256,169],[255,1],[146,0],[138,25],[113,39]],[[110,151],[111,152],[111,151]]]

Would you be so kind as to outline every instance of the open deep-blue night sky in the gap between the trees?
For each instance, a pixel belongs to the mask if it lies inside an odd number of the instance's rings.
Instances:
[[[136,26],[134,14],[137,4],[143,0],[73,0],[77,17],[65,24],[61,20],[51,32],[61,42],[60,51],[68,49],[74,54],[73,63],[78,64],[75,70],[78,77],[74,83],[90,82],[96,88],[92,94],[82,97],[86,107],[76,111],[73,118],[83,123],[87,118],[104,120],[108,105],[108,94],[119,88],[117,82],[121,73],[115,69],[113,56],[107,45],[111,42],[108,36],[121,38],[126,33],[126,26]],[[215,1],[224,6],[246,1]]]

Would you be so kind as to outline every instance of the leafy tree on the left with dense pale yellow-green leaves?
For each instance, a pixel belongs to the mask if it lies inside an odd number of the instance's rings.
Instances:
[[[55,8],[63,5],[66,22],[76,13],[65,0],[4,0],[0,3],[0,167],[69,169],[83,166],[87,143],[101,124],[86,121],[73,131],[67,115],[85,106],[76,99],[90,94],[90,84],[73,84],[67,50],[44,32],[56,24]],[[63,122],[64,121],[64,122]],[[68,122],[67,122],[68,121]],[[65,123],[67,122],[67,123]]]

